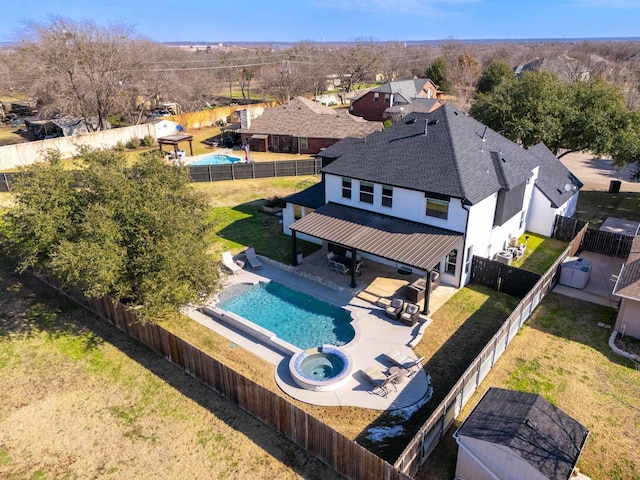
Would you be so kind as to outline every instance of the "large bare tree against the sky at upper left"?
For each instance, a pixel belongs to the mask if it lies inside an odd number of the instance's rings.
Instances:
[[[30,24],[27,33],[18,48],[31,65],[34,94],[82,117],[87,128],[104,129],[142,66],[133,30],[53,17]]]

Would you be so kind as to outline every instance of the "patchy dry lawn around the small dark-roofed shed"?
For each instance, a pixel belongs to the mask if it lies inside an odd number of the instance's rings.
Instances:
[[[640,479],[640,371],[613,354],[615,310],[556,294],[534,312],[418,476],[453,478],[451,435],[489,387],[540,393],[590,430],[578,468],[594,479]]]

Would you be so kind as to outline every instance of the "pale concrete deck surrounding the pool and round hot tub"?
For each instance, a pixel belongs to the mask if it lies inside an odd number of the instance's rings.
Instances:
[[[409,344],[412,341],[417,341],[419,336],[424,333],[430,324],[428,318],[424,318],[424,321],[415,327],[408,327],[387,318],[382,308],[356,297],[352,291],[340,291],[321,285],[287,271],[285,268],[280,268],[268,259],[261,257],[261,260],[264,260],[262,269],[251,271],[246,266],[242,272],[229,275],[227,284],[274,280],[352,312],[354,318],[352,323],[359,334],[356,335],[354,341],[340,347],[351,356],[353,361],[353,373],[347,383],[328,392],[303,389],[291,378],[289,373],[290,357],[288,355],[284,355],[199,311],[192,310],[188,312],[188,315],[224,336],[233,344],[259,355],[274,365],[278,386],[285,393],[302,402],[324,406],[356,406],[376,410],[395,410],[409,407],[430,397],[430,378],[424,369],[420,369],[412,377],[403,377],[403,381],[395,385],[395,390],[393,386],[390,388],[386,397],[373,394],[373,386],[362,373],[362,370],[370,367],[386,372],[393,366],[393,363],[385,353],[394,350],[417,358]]]

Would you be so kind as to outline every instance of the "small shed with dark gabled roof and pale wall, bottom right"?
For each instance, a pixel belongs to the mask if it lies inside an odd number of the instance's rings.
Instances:
[[[455,478],[567,480],[588,436],[541,395],[490,388],[453,435]]]

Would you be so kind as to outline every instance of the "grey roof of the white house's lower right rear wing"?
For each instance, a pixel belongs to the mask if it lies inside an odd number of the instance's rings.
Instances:
[[[582,182],[558,160],[544,143],[531,147],[528,152],[535,157],[528,168],[540,167],[536,186],[549,199],[554,208],[564,205],[576,191],[582,188]]]

